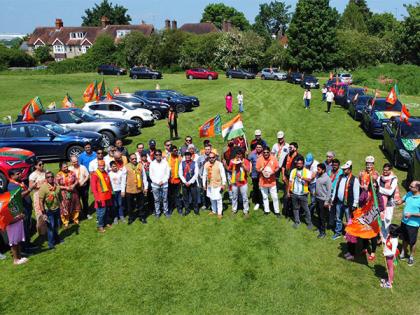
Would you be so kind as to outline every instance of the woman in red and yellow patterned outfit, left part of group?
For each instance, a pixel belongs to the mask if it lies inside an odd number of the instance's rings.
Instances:
[[[67,162],[60,162],[60,171],[56,175],[56,182],[61,194],[61,221],[64,228],[68,228],[70,220],[79,224],[80,198],[77,193],[76,174],[69,170]]]

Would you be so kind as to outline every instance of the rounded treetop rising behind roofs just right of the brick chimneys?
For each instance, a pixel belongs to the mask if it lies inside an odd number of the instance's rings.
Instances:
[[[223,3],[212,3],[204,8],[201,22],[212,22],[219,29],[222,29],[223,21],[229,20],[233,26],[240,30],[247,30],[250,24],[242,12]]]

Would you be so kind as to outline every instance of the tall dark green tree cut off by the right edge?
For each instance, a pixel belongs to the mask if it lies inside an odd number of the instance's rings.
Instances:
[[[408,16],[398,30],[397,60],[420,65],[420,2],[405,5]]]

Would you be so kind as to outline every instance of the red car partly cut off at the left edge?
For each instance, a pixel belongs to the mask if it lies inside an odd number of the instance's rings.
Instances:
[[[18,169],[22,179],[26,180],[35,163],[35,154],[32,151],[19,148],[0,148],[0,192],[3,192],[9,181],[9,171]]]

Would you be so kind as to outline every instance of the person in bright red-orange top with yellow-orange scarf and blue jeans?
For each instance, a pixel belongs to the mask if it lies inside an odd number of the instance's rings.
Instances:
[[[112,186],[108,173],[105,171],[105,161],[98,161],[98,169],[91,173],[90,185],[95,198],[96,219],[98,231],[105,232],[107,212],[112,207]],[[108,224],[108,227],[111,227]]]

